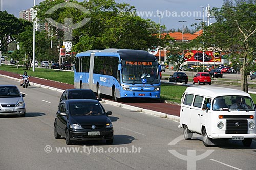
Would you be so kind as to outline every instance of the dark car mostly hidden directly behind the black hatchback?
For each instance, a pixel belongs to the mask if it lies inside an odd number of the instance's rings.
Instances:
[[[60,96],[59,101],[67,99],[95,99],[101,101],[101,98],[97,98],[96,94],[91,89],[66,89]]]

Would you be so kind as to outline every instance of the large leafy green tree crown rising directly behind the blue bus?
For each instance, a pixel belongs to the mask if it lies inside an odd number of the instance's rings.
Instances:
[[[102,48],[136,48],[147,50],[150,46],[158,46],[161,42],[157,38],[158,26],[155,22],[145,20],[136,15],[133,6],[126,3],[116,3],[114,0],[69,1],[86,8],[84,13],[76,8],[63,7],[51,15],[46,11],[53,6],[65,2],[64,0],[41,2],[37,9],[41,20],[52,18],[56,22],[64,23],[65,18],[72,18],[73,23],[90,18],[80,28],[73,30],[73,47],[75,52]],[[122,15],[121,15],[122,14]],[[58,38],[63,37],[63,30],[56,28]]]

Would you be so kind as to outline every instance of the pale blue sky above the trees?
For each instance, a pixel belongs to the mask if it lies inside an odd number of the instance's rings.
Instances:
[[[19,17],[19,11],[33,7],[34,0],[0,0],[2,9]],[[36,5],[43,0],[35,0]],[[82,2],[82,0],[79,0]],[[194,23],[200,23],[203,19],[203,9],[209,5],[210,8],[221,8],[223,0],[116,0],[117,3],[128,3],[135,6],[137,15],[144,19],[151,19],[156,23],[165,25],[167,30],[191,27]],[[121,13],[120,13],[121,14]],[[160,16],[159,16],[160,14]],[[204,12],[204,16],[206,13]],[[201,20],[196,20],[201,19]],[[204,17],[204,21],[207,18]],[[209,24],[215,20],[210,19]]]

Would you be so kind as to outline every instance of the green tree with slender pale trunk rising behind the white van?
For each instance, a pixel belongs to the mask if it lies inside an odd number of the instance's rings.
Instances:
[[[254,1],[225,1],[224,5],[212,10],[217,22],[204,27],[205,47],[215,46],[229,54],[233,63],[239,63],[241,90],[248,92],[247,75],[255,60],[256,5]],[[207,37],[207,38],[206,38]]]

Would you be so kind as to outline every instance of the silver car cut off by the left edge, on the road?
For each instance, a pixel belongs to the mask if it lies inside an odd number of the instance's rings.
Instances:
[[[26,109],[21,94],[16,85],[0,85],[0,115],[20,115],[25,117]]]

